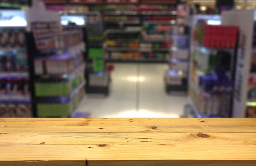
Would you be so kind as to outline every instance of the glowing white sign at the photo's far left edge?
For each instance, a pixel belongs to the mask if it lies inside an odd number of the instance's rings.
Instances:
[[[0,11],[0,27],[26,27],[26,14],[21,10]]]

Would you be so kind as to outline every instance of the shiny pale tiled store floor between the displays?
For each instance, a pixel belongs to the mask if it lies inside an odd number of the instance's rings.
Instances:
[[[87,95],[79,112],[92,118],[176,118],[188,103],[184,93],[167,95],[165,64],[114,64],[110,96]]]

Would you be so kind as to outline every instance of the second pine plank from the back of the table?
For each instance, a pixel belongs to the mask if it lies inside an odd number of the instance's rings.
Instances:
[[[183,132],[212,132],[212,133],[253,133],[255,126],[126,126],[126,127],[93,127],[93,126],[69,126],[69,127],[0,127],[0,133],[183,133]]]

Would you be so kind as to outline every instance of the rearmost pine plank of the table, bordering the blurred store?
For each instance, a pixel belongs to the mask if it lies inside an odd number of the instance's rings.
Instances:
[[[18,121],[19,123],[13,123]],[[256,126],[256,118],[0,118],[0,126]]]

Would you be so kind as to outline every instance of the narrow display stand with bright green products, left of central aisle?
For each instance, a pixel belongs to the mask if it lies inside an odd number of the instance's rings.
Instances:
[[[87,15],[86,93],[110,93],[110,73],[106,70],[103,48],[103,25],[99,13]]]

